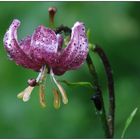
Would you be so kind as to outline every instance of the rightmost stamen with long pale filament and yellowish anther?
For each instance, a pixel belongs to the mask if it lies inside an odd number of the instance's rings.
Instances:
[[[59,91],[61,93],[63,103],[67,104],[68,103],[67,94],[66,94],[65,90],[63,89],[63,87],[61,86],[61,84],[55,79],[52,69],[50,71],[50,74],[51,74],[51,76],[53,78],[54,83],[56,84],[56,86],[58,87],[58,89],[59,89]]]

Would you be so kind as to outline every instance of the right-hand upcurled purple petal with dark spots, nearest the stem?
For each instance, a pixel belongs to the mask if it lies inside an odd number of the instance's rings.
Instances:
[[[76,22],[72,28],[72,34],[68,46],[61,56],[61,66],[67,71],[78,68],[86,59],[88,54],[88,40],[85,26]]]

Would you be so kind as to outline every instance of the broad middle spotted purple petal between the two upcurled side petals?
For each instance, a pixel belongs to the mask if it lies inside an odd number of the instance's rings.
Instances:
[[[55,32],[44,26],[39,26],[32,35],[31,46],[33,56],[38,61],[44,61],[52,66],[57,57],[58,41]]]

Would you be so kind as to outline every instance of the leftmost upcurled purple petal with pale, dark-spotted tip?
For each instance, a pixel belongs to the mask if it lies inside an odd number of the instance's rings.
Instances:
[[[11,60],[14,60],[18,65],[26,68],[39,70],[39,67],[24,53],[20,48],[17,40],[17,29],[20,26],[20,21],[15,19],[6,31],[4,36],[4,47]]]

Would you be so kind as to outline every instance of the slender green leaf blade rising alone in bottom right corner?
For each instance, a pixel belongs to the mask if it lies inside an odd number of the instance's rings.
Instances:
[[[121,138],[124,138],[124,135],[125,135],[125,133],[126,133],[126,130],[127,130],[127,128],[129,127],[129,125],[131,124],[131,122],[132,122],[134,116],[136,115],[137,110],[138,110],[138,108],[135,108],[135,109],[133,110],[133,112],[130,114],[130,116],[128,117],[128,119],[127,119],[127,121],[126,121],[126,123],[125,123],[124,129],[123,129]]]

